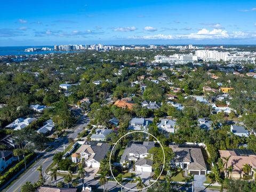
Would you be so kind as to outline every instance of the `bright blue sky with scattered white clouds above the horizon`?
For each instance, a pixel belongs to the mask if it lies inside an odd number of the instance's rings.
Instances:
[[[256,44],[256,1],[1,2],[0,46]]]

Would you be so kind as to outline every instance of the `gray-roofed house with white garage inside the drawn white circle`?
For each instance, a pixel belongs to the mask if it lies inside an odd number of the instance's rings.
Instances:
[[[121,157],[121,165],[123,167],[130,166],[135,162],[135,171],[152,172],[153,162],[148,157],[149,150],[155,146],[155,142],[144,141],[141,143],[131,143],[130,147],[124,150]]]

